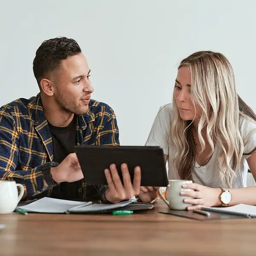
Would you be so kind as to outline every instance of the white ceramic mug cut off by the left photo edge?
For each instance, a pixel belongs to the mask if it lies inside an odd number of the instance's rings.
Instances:
[[[17,187],[20,188],[20,195]],[[12,213],[23,195],[23,185],[11,180],[0,180],[0,214]]]

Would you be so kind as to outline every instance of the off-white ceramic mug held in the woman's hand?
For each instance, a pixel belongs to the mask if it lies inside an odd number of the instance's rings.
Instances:
[[[185,204],[184,199],[191,198],[188,196],[180,195],[181,191],[194,191],[193,189],[183,189],[182,185],[186,183],[193,183],[192,180],[169,180],[169,184],[166,187],[166,198],[161,193],[161,189],[158,189],[158,194],[163,201],[172,210],[186,210],[186,207],[191,204]]]

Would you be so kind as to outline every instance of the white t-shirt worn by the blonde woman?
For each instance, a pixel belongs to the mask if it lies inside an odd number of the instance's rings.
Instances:
[[[168,155],[168,177],[169,179],[180,179],[176,166],[173,166],[173,157],[175,155],[175,148],[169,144],[168,134],[170,131],[170,124],[173,118],[172,103],[160,107],[159,112],[154,120],[151,128],[148,140],[145,143],[146,146],[160,146],[163,148],[163,153]],[[249,135],[250,141],[244,145],[244,152],[249,153],[256,147],[256,122],[251,121],[245,117],[240,119],[240,132],[242,139]],[[215,150],[211,159],[205,166],[199,166],[195,164],[195,172],[193,174],[193,180],[195,183],[202,184],[209,187],[221,187],[219,180],[217,158],[218,158],[218,146],[215,146]],[[237,176],[233,180],[233,188],[246,187],[248,164],[247,158],[249,156],[243,156],[240,163],[240,172],[236,172]]]

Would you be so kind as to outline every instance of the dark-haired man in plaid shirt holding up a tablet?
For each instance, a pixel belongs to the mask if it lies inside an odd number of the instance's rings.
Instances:
[[[74,146],[119,145],[119,131],[114,111],[90,99],[90,69],[77,42],[65,37],[44,41],[33,71],[40,93],[0,108],[0,179],[23,184],[23,200],[96,194],[102,203],[156,198],[156,188],[140,187],[140,168],[131,181],[126,164],[124,184],[114,164],[105,170],[108,186],[84,183]]]

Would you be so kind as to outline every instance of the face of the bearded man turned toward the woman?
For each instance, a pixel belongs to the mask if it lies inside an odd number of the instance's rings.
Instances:
[[[67,57],[56,72],[54,97],[61,111],[76,115],[87,113],[93,87],[90,69],[82,53]]]

